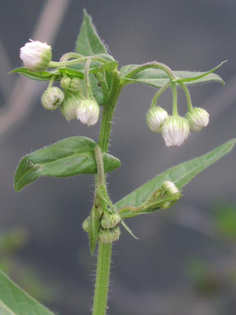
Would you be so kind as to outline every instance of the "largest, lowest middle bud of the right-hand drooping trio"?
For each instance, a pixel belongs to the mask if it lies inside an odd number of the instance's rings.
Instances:
[[[169,116],[161,127],[166,146],[180,146],[189,135],[188,121],[181,116]]]

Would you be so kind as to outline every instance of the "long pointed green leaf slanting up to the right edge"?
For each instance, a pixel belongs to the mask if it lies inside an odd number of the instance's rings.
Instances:
[[[168,170],[154,177],[148,183],[123,197],[115,204],[115,206],[117,209],[125,206],[141,206],[145,200],[147,200],[148,197],[161,186],[164,181],[171,181],[175,183],[178,189],[181,189],[198,173],[229,153],[235,144],[236,138],[231,139],[230,141],[201,157],[191,159],[177,166],[169,168]]]

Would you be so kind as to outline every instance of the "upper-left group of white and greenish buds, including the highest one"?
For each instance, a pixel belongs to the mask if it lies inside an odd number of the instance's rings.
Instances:
[[[30,71],[43,71],[50,67],[52,48],[40,41],[30,41],[20,50],[20,58]],[[91,97],[86,98],[79,78],[63,76],[60,86],[49,87],[42,95],[44,108],[54,110],[58,107],[67,121],[77,118],[82,124],[93,126],[99,118],[99,105]]]

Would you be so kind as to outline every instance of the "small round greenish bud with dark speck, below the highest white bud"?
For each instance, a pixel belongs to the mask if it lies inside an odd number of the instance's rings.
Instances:
[[[41,102],[46,109],[58,108],[64,100],[64,93],[57,87],[48,88],[44,91]]]

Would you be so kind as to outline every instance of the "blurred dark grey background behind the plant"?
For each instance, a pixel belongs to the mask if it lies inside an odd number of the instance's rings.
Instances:
[[[156,174],[235,137],[235,0],[9,0],[0,10],[0,266],[57,315],[89,314],[95,257],[81,224],[93,178],[43,178],[15,192],[19,160],[73,135],[98,137],[98,126],[70,124],[44,110],[44,82],[17,74],[29,38],[53,46],[53,59],[73,51],[83,8],[119,65],[159,61],[173,70],[217,73],[225,80],[190,88],[210,123],[179,148],[167,148],[146,126],[155,90],[127,86],[115,113],[110,152],[122,166],[109,174],[114,202]],[[171,94],[159,103],[171,110]],[[186,112],[183,94],[179,111]],[[114,246],[110,315],[235,315],[236,152],[198,175],[169,210],[127,221]]]

